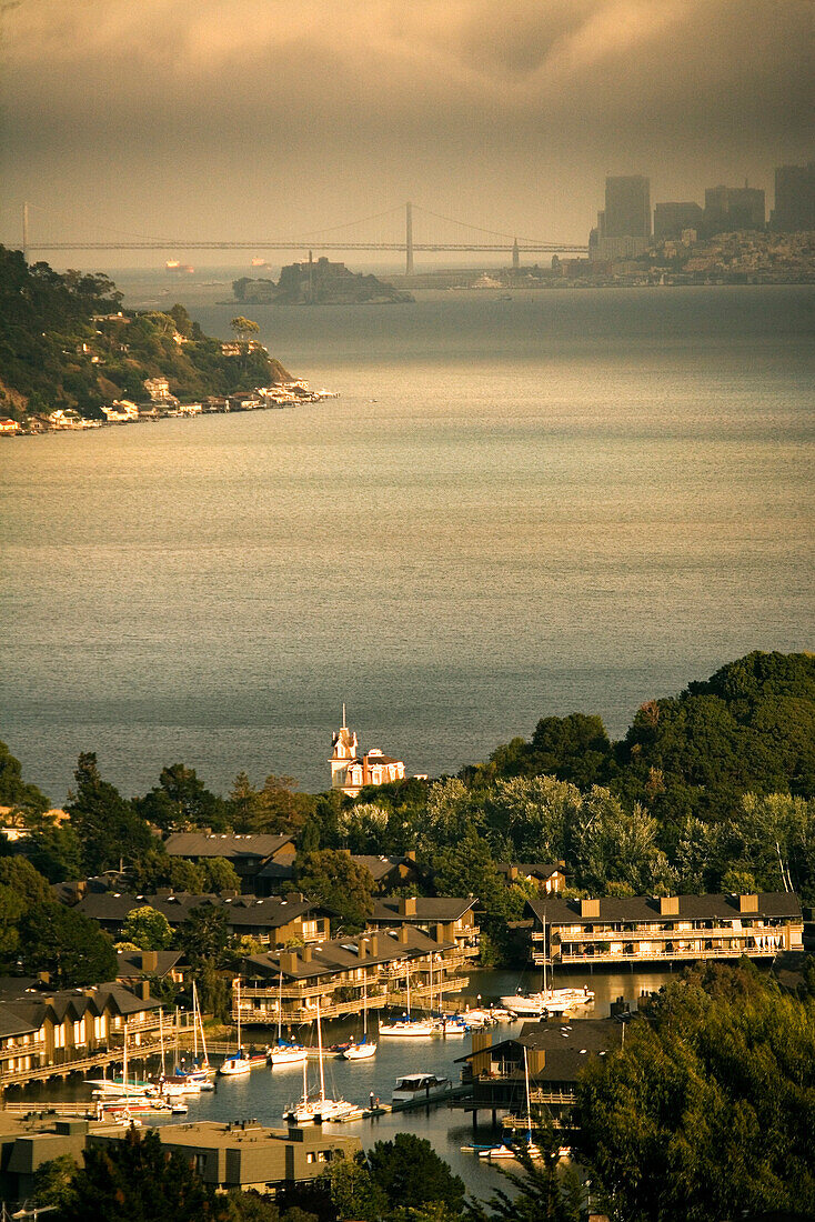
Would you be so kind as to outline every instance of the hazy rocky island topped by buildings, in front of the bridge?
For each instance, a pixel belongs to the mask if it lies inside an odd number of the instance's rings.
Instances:
[[[411,293],[387,281],[349,271],[345,263],[325,257],[290,263],[281,268],[277,284],[241,276],[232,281],[232,292],[242,306],[389,306],[413,301]]]

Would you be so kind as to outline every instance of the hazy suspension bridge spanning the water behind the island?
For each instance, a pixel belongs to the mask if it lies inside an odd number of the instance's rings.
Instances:
[[[38,209],[39,210],[39,209]],[[45,211],[45,209],[43,209]],[[414,216],[422,222],[414,231]],[[400,218],[403,229],[398,235],[393,232],[395,220]],[[403,219],[403,220],[402,220]],[[459,231],[455,237],[422,235],[420,229],[428,229],[428,221],[444,222]],[[387,222],[387,233],[382,233],[382,222]],[[365,226],[376,225],[379,232],[371,236],[348,233],[351,230],[364,230]],[[430,226],[431,227],[431,226]],[[464,231],[463,233],[461,231]],[[147,237],[133,235],[116,235],[115,237],[98,240],[72,240],[51,241],[48,237],[34,235],[29,225],[28,204],[23,204],[23,242],[22,249],[26,258],[32,253],[42,252],[68,252],[68,251],[163,251],[163,252],[192,252],[192,251],[253,251],[271,252],[285,251],[297,254],[298,252],[310,252],[319,249],[320,253],[331,252],[396,252],[404,255],[404,270],[407,275],[413,275],[414,255],[417,253],[452,254],[452,253],[481,253],[481,254],[508,254],[513,265],[518,266],[523,255],[534,254],[585,254],[588,247],[576,246],[571,242],[556,242],[552,240],[536,240],[518,237],[516,233],[499,232],[467,221],[453,220],[450,216],[441,216],[429,209],[414,207],[408,203],[403,208],[389,209],[374,216],[365,216],[362,220],[348,221],[343,225],[330,226],[325,230],[313,231],[302,237],[253,237],[250,240],[233,238],[186,238],[186,237]]]

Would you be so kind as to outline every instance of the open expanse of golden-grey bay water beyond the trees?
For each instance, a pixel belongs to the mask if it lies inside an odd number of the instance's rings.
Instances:
[[[814,301],[258,309],[338,400],[2,444],[2,738],[55,802],[81,750],[126,793],[176,760],[315,791],[343,700],[433,776],[810,648]]]

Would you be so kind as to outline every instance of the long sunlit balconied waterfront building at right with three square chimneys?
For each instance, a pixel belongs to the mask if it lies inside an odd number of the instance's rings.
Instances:
[[[527,903],[532,958],[568,967],[587,963],[666,963],[775,958],[800,951],[803,916],[792,892],[715,896],[632,896]]]

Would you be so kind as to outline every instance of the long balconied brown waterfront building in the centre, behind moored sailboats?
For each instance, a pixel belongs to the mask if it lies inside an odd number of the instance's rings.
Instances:
[[[456,943],[402,925],[336,937],[315,946],[253,954],[239,979],[241,1022],[290,1026],[316,1018],[360,1014],[385,1006],[440,1008],[462,990],[462,957]],[[232,997],[237,1018],[238,982]]]

